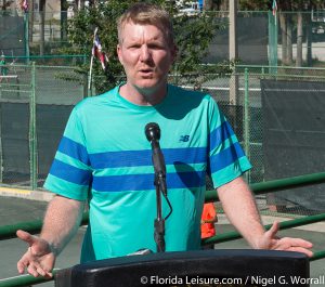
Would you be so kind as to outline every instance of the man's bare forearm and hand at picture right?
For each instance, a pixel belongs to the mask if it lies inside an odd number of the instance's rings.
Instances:
[[[274,249],[303,252],[311,257],[312,244],[301,238],[276,237],[278,223],[265,231],[255,198],[242,177],[220,186],[218,196],[231,223],[248,244],[256,249]]]

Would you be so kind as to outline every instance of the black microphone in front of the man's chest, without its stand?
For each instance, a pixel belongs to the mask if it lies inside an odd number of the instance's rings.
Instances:
[[[160,128],[156,122],[150,122],[145,126],[145,136],[152,144],[153,149],[153,165],[155,169],[156,180],[160,185],[161,192],[167,196],[167,185],[166,185],[166,165],[165,158],[160,149]],[[156,182],[155,182],[156,184]]]

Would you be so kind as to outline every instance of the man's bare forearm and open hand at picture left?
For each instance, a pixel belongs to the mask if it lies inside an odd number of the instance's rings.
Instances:
[[[84,208],[84,201],[56,195],[47,209],[39,236],[17,231],[17,236],[29,247],[17,262],[22,274],[25,269],[32,276],[51,277],[55,259],[77,232]]]

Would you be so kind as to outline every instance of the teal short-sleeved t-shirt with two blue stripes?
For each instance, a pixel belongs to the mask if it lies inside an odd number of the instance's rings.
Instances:
[[[168,86],[155,106],[134,105],[119,87],[76,105],[44,187],[89,200],[81,262],[156,250],[156,190],[152,148],[144,128],[157,122],[172,213],[166,251],[200,248],[206,173],[214,187],[250,168],[238,141],[210,95]],[[162,213],[169,208],[162,197]]]

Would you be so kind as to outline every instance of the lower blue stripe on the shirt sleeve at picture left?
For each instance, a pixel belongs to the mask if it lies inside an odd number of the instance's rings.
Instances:
[[[92,177],[91,171],[78,169],[58,159],[54,159],[50,174],[79,185],[89,185]]]

